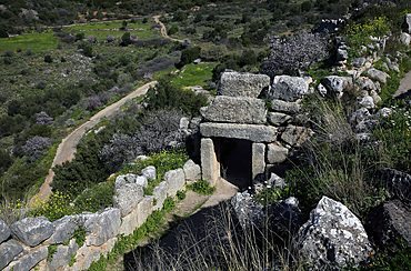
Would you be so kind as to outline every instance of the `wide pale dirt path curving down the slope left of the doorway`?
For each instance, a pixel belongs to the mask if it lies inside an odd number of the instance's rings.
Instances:
[[[72,131],[69,136],[67,136],[61,141],[59,148],[57,149],[56,157],[51,164],[51,168],[53,168],[56,164],[61,164],[64,161],[71,161],[74,158],[77,144],[79,143],[84,132],[94,127],[97,123],[99,123],[101,118],[108,117],[116,110],[119,110],[120,107],[123,106],[128,100],[144,94],[147,90],[150,87],[154,86],[156,83],[157,81],[152,81],[138,88],[127,97],[122,98],[120,101],[110,104],[109,107],[104,108],[103,110],[91,117],[89,121],[84,122],[83,124],[78,127],[74,131]],[[50,195],[51,193],[50,183],[53,181],[53,175],[54,172],[52,171],[52,169],[49,169],[49,174],[46,177],[44,183],[40,188],[40,192],[31,199],[31,202],[34,202],[37,199],[47,199]]]

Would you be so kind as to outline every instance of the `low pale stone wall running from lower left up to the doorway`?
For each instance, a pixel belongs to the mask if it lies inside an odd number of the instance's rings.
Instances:
[[[148,167],[142,175],[116,178],[114,205],[102,211],[66,215],[50,222],[44,217],[26,218],[10,228],[0,219],[0,270],[84,270],[112,250],[118,235],[129,235],[141,227],[154,210],[162,209],[167,197],[174,197],[186,181],[201,179],[200,165],[189,160],[183,169],[171,170],[154,189],[143,194],[149,179],[156,179],[156,168]],[[79,248],[73,239],[77,229],[86,230],[86,241]],[[52,260],[47,260],[48,247],[58,244]],[[72,259],[76,262],[69,267]]]

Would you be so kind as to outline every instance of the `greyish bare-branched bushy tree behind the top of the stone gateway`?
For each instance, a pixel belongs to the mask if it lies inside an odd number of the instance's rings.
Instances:
[[[270,57],[264,60],[261,72],[267,74],[287,73],[297,74],[319,62],[328,56],[328,42],[319,36],[305,30],[299,31],[290,38],[269,36]]]

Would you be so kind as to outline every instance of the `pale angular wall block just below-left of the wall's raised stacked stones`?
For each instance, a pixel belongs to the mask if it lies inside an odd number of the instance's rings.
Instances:
[[[106,208],[98,212],[94,225],[90,234],[86,238],[87,245],[101,245],[109,239],[120,233],[120,210],[117,208]]]

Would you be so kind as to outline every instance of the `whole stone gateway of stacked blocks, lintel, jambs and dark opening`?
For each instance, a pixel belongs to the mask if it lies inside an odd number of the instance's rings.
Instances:
[[[223,177],[240,189],[267,180],[290,148],[312,136],[310,129],[289,126],[307,92],[302,78],[275,77],[270,88],[268,76],[224,72],[218,96],[200,110],[202,178],[215,185]],[[272,112],[261,97],[270,100]]]

